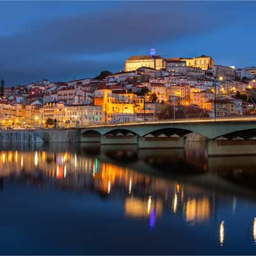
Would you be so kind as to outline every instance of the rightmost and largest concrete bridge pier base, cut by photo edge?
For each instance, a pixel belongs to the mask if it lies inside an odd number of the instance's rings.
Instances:
[[[208,156],[256,155],[256,140],[207,140]]]

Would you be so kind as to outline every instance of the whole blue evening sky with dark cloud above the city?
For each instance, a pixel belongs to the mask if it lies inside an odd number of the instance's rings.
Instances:
[[[129,56],[256,66],[253,1],[0,1],[6,86],[124,70]]]

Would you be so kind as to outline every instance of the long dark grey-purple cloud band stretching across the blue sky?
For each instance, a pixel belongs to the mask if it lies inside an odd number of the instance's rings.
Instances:
[[[42,77],[90,76],[124,63],[100,60],[100,54],[132,51],[214,31],[234,22],[236,8],[210,2],[124,2],[113,10],[102,8],[90,15],[72,13],[29,23],[19,33],[0,37],[0,77],[13,84]],[[74,56],[83,54],[87,60],[74,61]]]

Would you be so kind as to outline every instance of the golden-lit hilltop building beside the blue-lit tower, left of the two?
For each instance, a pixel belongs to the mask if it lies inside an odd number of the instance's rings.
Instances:
[[[131,56],[128,60],[125,61],[125,72],[137,70],[140,67],[148,67],[161,70],[166,67],[166,63],[165,60],[159,55]]]

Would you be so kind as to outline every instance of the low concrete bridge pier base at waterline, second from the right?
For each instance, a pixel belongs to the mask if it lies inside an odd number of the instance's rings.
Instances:
[[[140,137],[139,148],[184,148],[186,139],[184,137]]]

